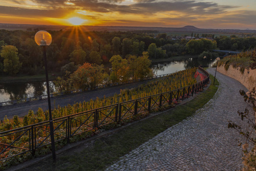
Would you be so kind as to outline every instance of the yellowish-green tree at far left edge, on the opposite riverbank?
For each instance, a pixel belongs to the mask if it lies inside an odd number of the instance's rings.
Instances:
[[[19,72],[22,63],[19,62],[18,49],[15,46],[2,46],[1,57],[3,60],[3,71],[9,75],[15,75]]]

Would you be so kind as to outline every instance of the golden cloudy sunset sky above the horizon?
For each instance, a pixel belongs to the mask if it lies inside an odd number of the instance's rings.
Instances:
[[[256,30],[256,1],[0,0],[0,23],[72,25],[77,19],[97,26]]]

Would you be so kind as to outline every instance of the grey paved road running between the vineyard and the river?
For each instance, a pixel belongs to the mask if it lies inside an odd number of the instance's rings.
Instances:
[[[115,95],[115,93],[120,93],[120,89],[125,88],[134,88],[139,86],[140,84],[147,83],[148,80],[143,82],[135,82],[131,84],[125,84],[121,86],[115,86],[115,87],[107,87],[102,89],[97,89],[94,91],[88,91],[83,93],[76,93],[73,95],[65,95],[65,96],[57,96],[51,98],[51,108],[54,109],[54,106],[60,105],[61,107],[67,105],[67,104],[74,104],[74,102],[80,102],[80,101],[88,101],[90,99],[96,99],[96,97],[104,97],[104,95],[112,96]],[[0,120],[3,120],[5,116],[8,118],[12,118],[14,115],[17,116],[25,116],[29,112],[29,110],[33,110],[34,112],[38,111],[38,108],[42,108],[43,110],[48,109],[48,101],[47,99],[42,100],[35,100],[35,101],[29,101],[25,103],[19,103],[14,105],[6,105],[0,107]]]

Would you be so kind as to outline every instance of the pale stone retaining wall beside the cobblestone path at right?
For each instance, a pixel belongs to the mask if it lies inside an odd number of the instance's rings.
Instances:
[[[224,75],[227,75],[238,82],[242,83],[249,91],[253,90],[253,87],[256,87],[256,70],[247,70],[242,72],[239,71],[240,68],[233,68],[233,66],[229,66],[229,69],[226,71],[224,66],[220,66],[217,68],[218,72],[221,72]]]

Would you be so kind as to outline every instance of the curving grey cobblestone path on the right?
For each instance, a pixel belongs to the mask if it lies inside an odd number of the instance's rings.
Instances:
[[[215,68],[208,70],[214,75]],[[216,95],[195,115],[120,158],[107,170],[240,170],[242,137],[227,128],[246,107],[239,82],[217,72]]]

